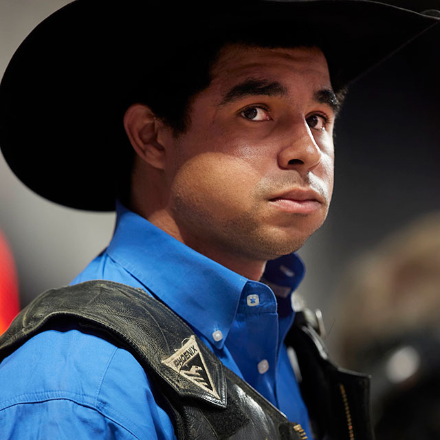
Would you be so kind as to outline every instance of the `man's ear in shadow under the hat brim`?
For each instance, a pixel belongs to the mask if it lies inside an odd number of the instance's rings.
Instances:
[[[162,122],[144,104],[133,104],[124,115],[124,128],[136,154],[155,168],[164,168],[165,149],[158,141]]]

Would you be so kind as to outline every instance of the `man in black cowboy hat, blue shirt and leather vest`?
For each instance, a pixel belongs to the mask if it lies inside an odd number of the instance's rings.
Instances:
[[[6,438],[372,437],[366,378],[327,360],[305,314],[292,327],[292,252],[327,215],[344,87],[437,20],[362,1],[213,7],[78,0],[5,73],[17,175],[67,206],[119,199],[109,248],[3,338]]]

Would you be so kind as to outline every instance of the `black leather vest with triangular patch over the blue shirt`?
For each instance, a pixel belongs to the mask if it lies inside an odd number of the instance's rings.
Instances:
[[[369,380],[329,362],[303,315],[287,337],[298,355],[302,392],[318,439],[371,440]],[[0,360],[34,334],[75,323],[128,349],[143,366],[153,393],[170,415],[177,439],[301,440],[287,420],[227,369],[165,305],[111,281],[52,289],[23,309],[0,338]]]

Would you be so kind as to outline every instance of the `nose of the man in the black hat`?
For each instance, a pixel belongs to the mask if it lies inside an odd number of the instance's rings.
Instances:
[[[321,162],[322,151],[307,123],[296,124],[283,150],[278,154],[278,166],[296,169],[304,174],[313,170]]]

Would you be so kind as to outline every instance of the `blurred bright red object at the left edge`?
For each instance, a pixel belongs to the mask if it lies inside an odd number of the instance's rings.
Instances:
[[[0,231],[0,334],[8,329],[19,311],[19,283],[14,256]]]

